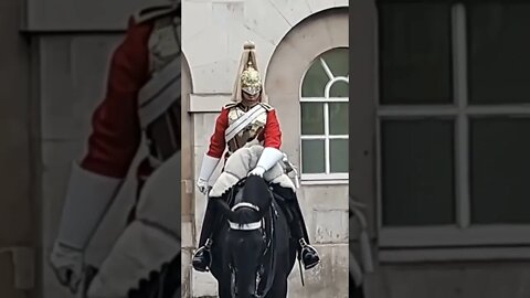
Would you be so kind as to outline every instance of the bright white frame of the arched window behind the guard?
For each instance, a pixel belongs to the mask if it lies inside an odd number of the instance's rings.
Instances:
[[[335,49],[331,49],[329,51],[332,51]],[[347,76],[335,76],[331,70],[329,68],[328,64],[326,61],[324,61],[322,57],[319,57],[320,64],[322,65],[322,68],[325,70],[326,74],[328,75],[328,83],[325,86],[324,89],[324,97],[303,97],[301,96],[301,85],[299,87],[299,100],[300,100],[300,107],[303,103],[324,103],[324,135],[301,135],[300,132],[300,142],[299,142],[299,148],[300,148],[300,180],[305,184],[320,184],[319,182],[322,183],[338,183],[338,184],[343,184],[348,183],[349,180],[349,173],[338,173],[338,172],[331,172],[331,164],[330,164],[330,157],[329,157],[329,140],[333,139],[349,139],[349,135],[329,135],[329,104],[330,103],[349,103],[349,97],[329,97],[329,92],[333,84],[343,82],[346,84],[350,84],[349,82],[349,75]],[[316,63],[316,62],[314,62]],[[311,63],[310,66],[314,65]],[[310,66],[308,67],[307,71],[309,71]],[[301,84],[304,84],[304,79],[306,77],[306,73],[304,74],[304,78]],[[301,117],[301,115],[300,115]],[[304,173],[304,162],[301,159],[303,152],[303,147],[301,142],[303,140],[324,140],[325,142],[325,173]]]

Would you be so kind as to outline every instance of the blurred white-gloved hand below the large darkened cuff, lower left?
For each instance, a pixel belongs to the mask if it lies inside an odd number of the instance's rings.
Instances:
[[[50,265],[61,285],[76,294],[83,280],[83,253],[56,242],[50,255]]]

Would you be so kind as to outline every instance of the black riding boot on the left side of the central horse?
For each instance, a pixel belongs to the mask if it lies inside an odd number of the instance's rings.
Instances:
[[[199,238],[199,248],[193,254],[192,266],[198,272],[208,272],[212,264],[212,233],[215,222],[214,202],[208,200],[206,212],[202,222],[201,237]]]

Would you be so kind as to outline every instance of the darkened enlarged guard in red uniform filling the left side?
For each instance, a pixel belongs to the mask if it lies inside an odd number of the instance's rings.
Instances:
[[[84,251],[115,200],[142,140],[148,155],[136,169],[138,194],[155,169],[176,155],[180,158],[181,55],[180,1],[135,14],[113,53],[106,95],[93,115],[87,153],[73,164],[51,253],[60,281],[73,291],[83,278]],[[174,172],[178,184],[179,173]],[[146,195],[144,202],[138,202],[127,228],[93,280],[96,292],[103,290],[104,284],[136,288],[138,276],[147,279],[150,272],[160,270],[171,260],[179,267],[179,281],[173,284],[180,285],[180,256],[174,258],[180,254],[180,223],[173,223],[178,222],[174,213],[180,214],[180,191],[171,195],[171,200],[157,198],[156,202]],[[174,212],[168,216],[163,210]],[[162,231],[165,236],[160,236]],[[158,249],[157,255],[152,247]],[[118,278],[119,283],[105,278]]]

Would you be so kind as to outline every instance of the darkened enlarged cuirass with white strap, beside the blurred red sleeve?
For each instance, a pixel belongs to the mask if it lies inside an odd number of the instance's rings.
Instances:
[[[148,44],[151,78],[140,91],[138,104],[153,168],[181,148],[180,28],[178,15],[157,20]]]

